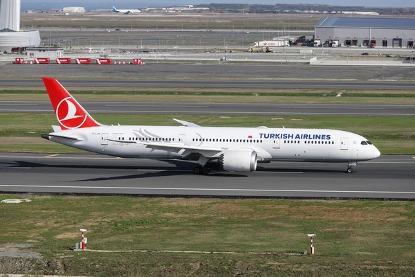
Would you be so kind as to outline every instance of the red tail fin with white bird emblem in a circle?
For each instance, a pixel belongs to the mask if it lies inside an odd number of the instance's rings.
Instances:
[[[62,84],[53,78],[42,79],[55,109],[57,121],[63,130],[100,126]]]

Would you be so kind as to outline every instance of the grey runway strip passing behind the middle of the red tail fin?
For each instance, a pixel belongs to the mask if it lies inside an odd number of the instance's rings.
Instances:
[[[212,102],[80,102],[89,113],[301,116],[415,116],[415,105],[333,105]],[[52,113],[49,101],[0,101],[0,112]]]

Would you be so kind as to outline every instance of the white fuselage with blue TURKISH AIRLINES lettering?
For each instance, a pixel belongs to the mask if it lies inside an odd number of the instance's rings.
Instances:
[[[100,154],[125,158],[176,158],[185,150],[169,152],[147,148],[147,142],[249,149],[259,161],[367,161],[380,156],[378,149],[358,134],[333,129],[100,126],[68,129],[51,134],[76,136],[82,141],[49,136],[50,141]],[[188,153],[187,153],[188,154]]]

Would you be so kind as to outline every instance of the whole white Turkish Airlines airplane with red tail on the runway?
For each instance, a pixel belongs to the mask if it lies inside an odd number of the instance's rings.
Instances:
[[[252,172],[257,163],[306,161],[347,163],[380,157],[363,136],[335,129],[102,125],[54,78],[42,78],[59,126],[42,138],[73,148],[122,158],[191,161],[195,174],[211,170]]]

